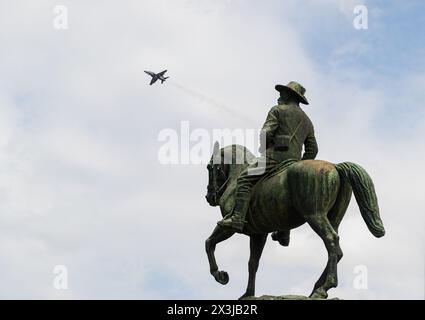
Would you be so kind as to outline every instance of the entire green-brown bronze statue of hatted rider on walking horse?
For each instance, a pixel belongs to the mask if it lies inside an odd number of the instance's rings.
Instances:
[[[385,230],[378,201],[372,179],[359,165],[313,160],[317,154],[313,125],[298,105],[308,104],[305,89],[296,82],[276,89],[279,104],[270,110],[263,126],[261,157],[240,145],[222,149],[218,142],[214,145],[207,166],[206,199],[211,206],[220,206],[223,220],[205,243],[210,273],[226,284],[229,276],[218,269],[215,247],[236,232],[248,235],[249,278],[241,298],[254,296],[255,275],[268,233],[286,246],[289,231],[307,222],[328,251],[327,265],[310,297],[327,298],[327,291],[338,284],[337,263],[343,255],[338,226],[352,193],[370,232],[382,237]]]

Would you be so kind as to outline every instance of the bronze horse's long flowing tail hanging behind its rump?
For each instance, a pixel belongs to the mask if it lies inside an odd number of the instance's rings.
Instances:
[[[377,238],[384,236],[385,229],[379,216],[378,199],[369,174],[361,166],[351,162],[335,165],[341,178],[346,179],[353,188],[363,220],[369,231]]]

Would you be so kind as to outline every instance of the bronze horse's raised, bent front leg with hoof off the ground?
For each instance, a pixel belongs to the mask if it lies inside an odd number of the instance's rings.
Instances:
[[[210,273],[213,275],[214,279],[221,284],[227,284],[229,282],[229,275],[226,271],[218,270],[214,255],[215,247],[217,243],[229,239],[234,234],[235,231],[230,228],[217,226],[215,227],[213,233],[205,241],[205,250],[207,251],[208,262],[210,264]]]

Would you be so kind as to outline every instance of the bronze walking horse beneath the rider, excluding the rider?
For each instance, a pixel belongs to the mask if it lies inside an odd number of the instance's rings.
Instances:
[[[206,199],[211,206],[220,207],[223,217],[233,210],[239,174],[254,160],[255,156],[244,146],[230,145],[220,149],[218,142],[215,143],[207,165]],[[255,296],[255,277],[268,233],[291,230],[305,222],[322,239],[328,252],[326,267],[310,298],[326,299],[328,290],[338,285],[337,264],[343,255],[338,226],[353,192],[370,232],[377,238],[384,236],[372,179],[355,163],[295,161],[284,170],[261,179],[252,190],[247,223],[241,232],[250,237],[250,257],[248,285],[240,299]],[[228,283],[229,275],[218,269],[214,251],[218,243],[235,233],[232,228],[217,225],[205,241],[210,273],[223,285]]]

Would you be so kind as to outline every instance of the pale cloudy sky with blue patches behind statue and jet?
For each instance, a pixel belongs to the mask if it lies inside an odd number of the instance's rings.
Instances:
[[[356,5],[367,29],[353,26]],[[318,159],[366,168],[387,231],[374,238],[352,199],[330,296],[424,299],[424,11],[419,0],[0,0],[0,298],[242,295],[249,239],[218,245],[230,282],[215,282],[206,167],[161,163],[159,136],[181,138],[182,121],[257,130],[274,85],[295,80]],[[163,69],[170,79],[149,86],[143,71]],[[308,295],[325,263],[306,225],[288,248],[269,239],[256,294]],[[358,266],[367,289],[353,285]]]

